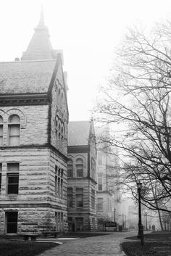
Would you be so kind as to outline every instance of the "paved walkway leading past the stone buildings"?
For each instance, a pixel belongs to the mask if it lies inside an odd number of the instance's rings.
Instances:
[[[133,236],[132,232],[114,232],[113,234],[91,236],[82,239],[58,240],[63,244],[43,252],[39,256],[124,256],[120,243],[125,237]],[[125,240],[126,241],[126,240]]]

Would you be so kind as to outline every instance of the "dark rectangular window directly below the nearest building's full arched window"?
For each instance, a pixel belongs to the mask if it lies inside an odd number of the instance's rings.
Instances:
[[[7,194],[18,194],[19,163],[7,164]]]

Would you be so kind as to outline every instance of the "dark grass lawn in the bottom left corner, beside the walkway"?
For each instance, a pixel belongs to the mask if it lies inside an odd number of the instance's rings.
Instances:
[[[11,241],[9,239],[0,239],[1,256],[35,256],[46,249],[56,247],[53,243],[36,243],[33,241]]]

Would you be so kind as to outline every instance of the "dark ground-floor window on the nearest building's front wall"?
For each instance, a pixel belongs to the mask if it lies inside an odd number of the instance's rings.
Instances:
[[[18,212],[6,212],[7,233],[17,233]]]

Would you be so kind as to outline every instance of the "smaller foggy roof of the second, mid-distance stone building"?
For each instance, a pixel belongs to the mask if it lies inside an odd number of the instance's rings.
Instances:
[[[91,121],[70,122],[68,125],[68,146],[88,145]]]

